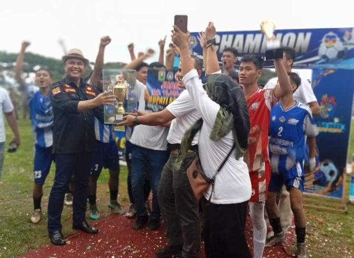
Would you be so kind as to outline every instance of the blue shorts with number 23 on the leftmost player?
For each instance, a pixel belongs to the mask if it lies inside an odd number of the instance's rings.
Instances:
[[[44,183],[50,171],[54,154],[52,153],[52,146],[50,147],[35,147],[34,153],[34,183]]]

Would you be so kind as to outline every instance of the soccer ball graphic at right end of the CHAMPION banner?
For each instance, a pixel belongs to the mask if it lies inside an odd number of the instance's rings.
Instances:
[[[318,55],[326,62],[335,62],[343,59],[345,56],[345,49],[337,34],[331,31],[324,35]]]

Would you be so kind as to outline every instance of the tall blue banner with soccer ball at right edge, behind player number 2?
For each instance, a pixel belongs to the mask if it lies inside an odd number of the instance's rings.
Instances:
[[[351,132],[354,73],[351,70],[314,69],[313,87],[321,115],[314,116],[319,135],[320,164],[306,174],[306,192],[343,197],[343,178]]]

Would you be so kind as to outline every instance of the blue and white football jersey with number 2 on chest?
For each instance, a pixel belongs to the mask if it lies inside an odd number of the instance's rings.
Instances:
[[[303,176],[306,136],[315,137],[317,127],[308,106],[297,102],[284,111],[278,102],[270,112],[269,157],[272,172],[290,172],[289,178]],[[287,176],[286,176],[287,177]]]

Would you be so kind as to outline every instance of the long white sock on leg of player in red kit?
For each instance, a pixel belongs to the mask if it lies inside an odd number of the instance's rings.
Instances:
[[[266,221],[264,202],[250,202],[250,215],[253,225],[253,258],[262,258],[266,244]]]

